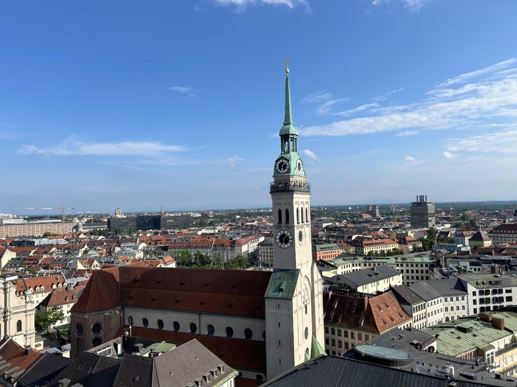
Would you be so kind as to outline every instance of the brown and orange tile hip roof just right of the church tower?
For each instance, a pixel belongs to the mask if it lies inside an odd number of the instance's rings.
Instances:
[[[323,300],[324,323],[383,332],[411,320],[391,293],[372,298],[332,294]]]

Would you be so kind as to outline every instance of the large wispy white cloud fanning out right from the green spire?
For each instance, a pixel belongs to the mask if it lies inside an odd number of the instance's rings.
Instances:
[[[501,63],[508,66],[517,61]],[[503,66],[501,63],[451,78],[443,86],[433,88],[427,98],[418,103],[364,110],[362,117],[300,128],[300,133],[305,136],[346,136],[390,131],[414,134],[420,130],[514,127],[517,74],[506,72],[494,79],[494,74],[499,73]],[[471,83],[463,84],[467,79]]]

